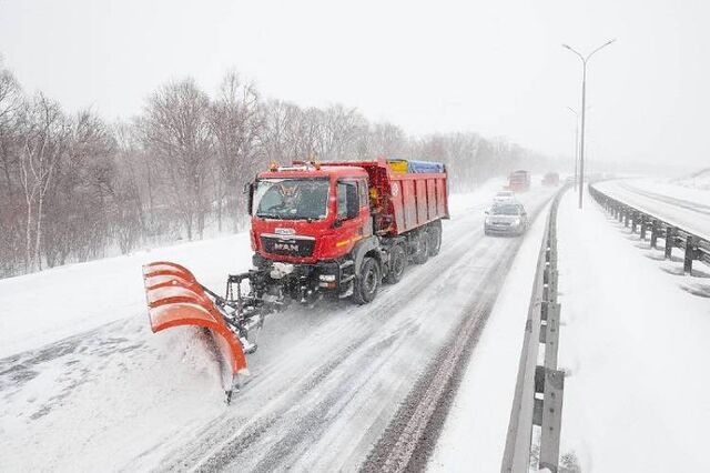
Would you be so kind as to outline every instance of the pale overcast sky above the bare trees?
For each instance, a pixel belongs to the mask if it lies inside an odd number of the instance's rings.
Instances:
[[[106,119],[234,69],[267,98],[571,155],[581,62],[561,43],[617,38],[589,62],[590,157],[696,168],[710,165],[708,23],[706,0],[0,0],[0,53],[27,91]]]

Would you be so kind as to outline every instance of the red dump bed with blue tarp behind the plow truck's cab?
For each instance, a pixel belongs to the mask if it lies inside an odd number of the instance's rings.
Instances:
[[[448,219],[448,182],[444,164],[404,160],[347,162],[369,177],[375,232],[396,236],[439,219]],[[328,163],[328,165],[335,163]],[[432,171],[432,172],[427,172]]]

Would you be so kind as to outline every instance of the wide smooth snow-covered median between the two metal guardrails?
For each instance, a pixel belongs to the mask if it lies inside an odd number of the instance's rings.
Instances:
[[[587,202],[559,208],[561,452],[585,473],[710,471],[710,303],[680,288],[680,263]]]

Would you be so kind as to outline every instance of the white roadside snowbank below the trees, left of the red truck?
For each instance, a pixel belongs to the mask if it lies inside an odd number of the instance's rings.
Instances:
[[[182,263],[205,285],[223,288],[251,258],[248,235],[240,233],[0,280],[0,358],[120,319],[148,324],[141,272],[148,262]]]

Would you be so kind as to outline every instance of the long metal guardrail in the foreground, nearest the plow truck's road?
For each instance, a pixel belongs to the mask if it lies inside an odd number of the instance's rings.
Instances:
[[[554,473],[558,470],[565,373],[557,370],[560,314],[557,208],[567,189],[568,185],[555,197],[545,224],[500,466],[503,473],[529,471],[534,425],[541,427],[538,469],[547,467]],[[540,346],[545,353],[542,365],[538,365]]]

